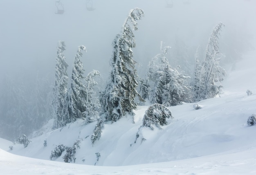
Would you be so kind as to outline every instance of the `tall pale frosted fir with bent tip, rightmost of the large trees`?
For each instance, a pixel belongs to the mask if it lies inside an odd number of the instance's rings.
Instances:
[[[198,93],[198,101],[213,98],[220,93],[223,81],[226,76],[225,70],[220,67],[221,54],[219,52],[218,38],[224,24],[220,22],[213,29],[206,49],[206,57],[200,71],[201,83]],[[195,93],[195,92],[194,92]]]

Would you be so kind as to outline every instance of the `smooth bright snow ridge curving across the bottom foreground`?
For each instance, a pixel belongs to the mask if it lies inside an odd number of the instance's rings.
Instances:
[[[133,166],[88,166],[32,159],[0,149],[0,175],[255,175],[256,148]]]

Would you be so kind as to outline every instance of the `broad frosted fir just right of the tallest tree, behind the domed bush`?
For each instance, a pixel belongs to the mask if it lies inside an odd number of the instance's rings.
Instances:
[[[174,106],[181,104],[182,101],[189,101],[188,87],[184,84],[190,78],[173,69],[166,58],[167,46],[162,48],[161,54],[157,54],[148,65],[147,79],[152,89],[151,103]]]

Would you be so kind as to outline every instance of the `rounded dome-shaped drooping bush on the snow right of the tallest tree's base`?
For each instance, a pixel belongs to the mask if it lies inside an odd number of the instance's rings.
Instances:
[[[167,124],[166,118],[173,119],[171,111],[161,104],[152,104],[145,112],[142,126],[150,127],[154,130],[153,125],[161,128]]]

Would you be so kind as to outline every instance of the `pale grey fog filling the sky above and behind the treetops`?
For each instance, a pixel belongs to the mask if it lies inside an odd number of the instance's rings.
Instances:
[[[246,45],[255,39],[253,0],[191,0],[189,5],[173,0],[172,9],[165,8],[165,0],[94,0],[94,11],[86,10],[85,0],[61,2],[63,15],[54,13],[54,0],[0,1],[1,78],[31,72],[48,74],[53,79],[58,40],[67,45],[65,56],[70,67],[77,46],[85,45],[85,71],[96,69],[104,78],[108,77],[112,40],[135,7],[145,12],[145,17],[138,21],[139,31],[135,32],[134,59],[141,66],[141,76],[150,58],[159,53],[161,40],[172,47],[175,37],[180,38],[188,48],[189,58],[194,59],[198,45],[201,54],[204,53],[211,30],[220,21],[226,25],[220,49],[227,57],[239,47],[248,49]],[[172,63],[170,55],[168,59]]]

